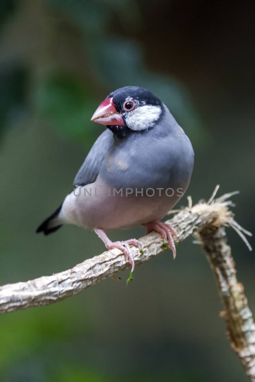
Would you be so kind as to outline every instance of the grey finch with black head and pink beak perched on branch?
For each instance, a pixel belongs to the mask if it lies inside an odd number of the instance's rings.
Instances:
[[[144,226],[157,231],[176,255],[175,230],[161,219],[185,193],[193,171],[192,144],[166,105],[152,92],[125,86],[111,92],[91,121],[106,126],[80,167],[73,190],[37,228],[44,235],[63,224],[94,230],[107,249],[123,251],[134,270],[130,246],[106,231]]]

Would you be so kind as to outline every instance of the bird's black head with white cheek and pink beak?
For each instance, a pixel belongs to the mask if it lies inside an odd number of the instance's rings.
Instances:
[[[110,93],[91,120],[106,125],[116,136],[153,128],[163,112],[163,105],[153,93],[138,86],[125,86]]]

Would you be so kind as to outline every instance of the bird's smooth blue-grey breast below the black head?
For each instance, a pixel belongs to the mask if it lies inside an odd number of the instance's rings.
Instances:
[[[152,129],[116,139],[100,176],[112,188],[176,189],[189,183],[193,157],[190,140],[168,112]]]

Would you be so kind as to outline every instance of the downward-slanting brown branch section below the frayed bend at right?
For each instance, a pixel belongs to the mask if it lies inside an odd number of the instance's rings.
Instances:
[[[225,308],[220,316],[226,320],[227,337],[247,376],[255,382],[255,324],[244,295],[244,287],[237,282],[235,263],[231,248],[227,245],[225,229],[206,227],[200,231],[200,238]]]

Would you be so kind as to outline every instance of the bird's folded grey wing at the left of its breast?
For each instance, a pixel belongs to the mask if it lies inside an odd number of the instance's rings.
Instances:
[[[102,162],[104,161],[109,147],[113,143],[113,134],[110,130],[105,130],[91,147],[80,170],[75,176],[74,187],[86,186],[94,183],[99,174]]]

